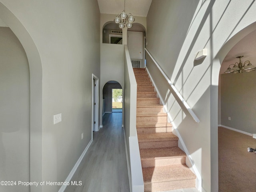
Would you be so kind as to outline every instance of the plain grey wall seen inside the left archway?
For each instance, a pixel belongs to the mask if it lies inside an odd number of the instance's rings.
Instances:
[[[8,27],[0,27],[0,180],[30,179],[30,76],[26,53]],[[29,187],[0,186],[1,192]]]

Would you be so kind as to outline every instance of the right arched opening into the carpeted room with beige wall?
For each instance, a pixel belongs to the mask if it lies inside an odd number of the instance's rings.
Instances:
[[[242,31],[241,31],[242,32]],[[219,191],[242,191],[246,183],[248,191],[256,191],[256,170],[253,169],[256,156],[247,152],[255,147],[256,104],[251,102],[256,94],[256,70],[238,74],[224,72],[230,66],[250,60],[256,64],[256,30],[241,38],[226,54],[220,67],[218,86],[218,156]],[[229,150],[232,147],[232,150]],[[235,151],[232,152],[232,151]],[[245,163],[246,162],[246,163]],[[241,176],[241,173],[246,173]]]

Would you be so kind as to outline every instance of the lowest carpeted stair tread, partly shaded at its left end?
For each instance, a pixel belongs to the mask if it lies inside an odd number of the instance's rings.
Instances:
[[[196,179],[185,164],[142,168],[144,183]]]

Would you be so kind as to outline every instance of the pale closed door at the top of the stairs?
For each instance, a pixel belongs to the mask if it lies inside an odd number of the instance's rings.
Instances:
[[[143,33],[128,31],[128,50],[131,59],[143,59]]]

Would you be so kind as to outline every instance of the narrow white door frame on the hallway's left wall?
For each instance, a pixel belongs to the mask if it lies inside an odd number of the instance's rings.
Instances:
[[[95,124],[94,124],[94,120],[95,120]],[[96,75],[92,74],[92,132],[99,130],[98,125],[99,125],[99,78]],[[92,140],[93,140],[93,134],[92,134]]]

